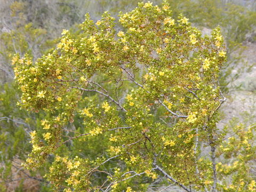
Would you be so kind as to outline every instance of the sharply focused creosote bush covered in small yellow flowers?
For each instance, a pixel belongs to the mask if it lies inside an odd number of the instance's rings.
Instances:
[[[188,20],[172,18],[167,3],[139,3],[119,15],[123,30],[107,12],[96,23],[86,14],[79,35],[63,30],[56,49],[36,62],[15,55],[18,105],[51,113],[43,134],[30,133],[24,166],[36,169],[54,155],[45,178],[56,191],[146,191],[159,178],[185,191],[253,191],[251,129],[226,138],[216,126],[225,101],[220,28],[202,36]],[[77,118],[83,125],[73,130]],[[99,157],[56,153],[100,137]]]

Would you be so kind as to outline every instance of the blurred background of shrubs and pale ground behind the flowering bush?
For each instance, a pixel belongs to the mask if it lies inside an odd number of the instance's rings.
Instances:
[[[128,12],[138,2],[141,1],[0,0],[0,191],[52,191],[43,178],[51,159],[37,171],[27,171],[20,166],[31,148],[29,132],[40,132],[39,120],[47,114],[31,114],[16,106],[20,91],[10,65],[12,55],[29,53],[36,60],[55,48],[62,29],[79,33],[77,26],[83,22],[85,13],[89,12],[94,21],[105,11],[118,18],[119,11]],[[160,0],[152,2],[162,3]],[[203,34],[210,34],[217,26],[222,28],[228,60],[222,69],[220,82],[228,100],[221,109],[220,129],[239,122],[245,125],[253,123],[256,115],[256,1],[167,2],[174,18],[183,13],[192,25],[203,30]],[[79,122],[73,126],[79,129]],[[59,154],[95,156],[100,153],[97,145],[74,142],[72,146],[61,147]],[[88,149],[86,154],[84,148]],[[148,191],[156,191],[156,186],[157,180],[147,186]]]

